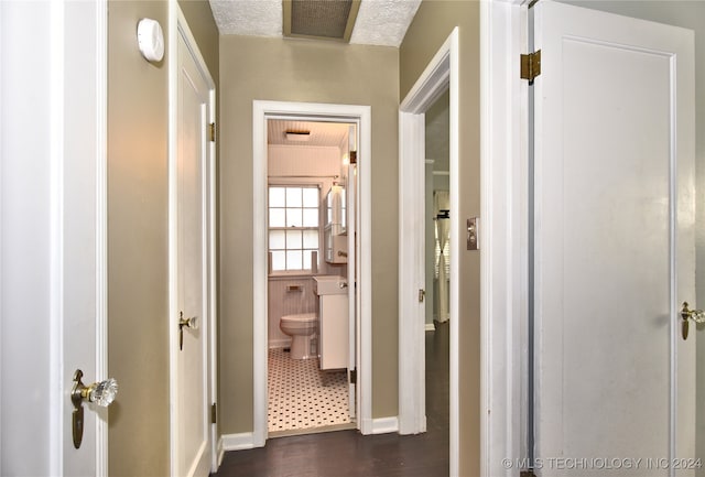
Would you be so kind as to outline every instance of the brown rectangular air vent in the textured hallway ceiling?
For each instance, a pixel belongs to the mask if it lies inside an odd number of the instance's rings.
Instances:
[[[349,42],[360,0],[283,0],[284,36]]]

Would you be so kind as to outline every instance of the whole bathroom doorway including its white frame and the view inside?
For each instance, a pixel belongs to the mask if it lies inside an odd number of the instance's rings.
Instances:
[[[370,108],[254,101],[253,109],[253,443],[365,433]]]

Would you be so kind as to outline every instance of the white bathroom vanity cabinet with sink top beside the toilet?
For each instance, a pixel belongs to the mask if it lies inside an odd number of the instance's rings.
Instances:
[[[318,354],[321,369],[348,367],[348,284],[344,277],[314,277],[318,296]]]

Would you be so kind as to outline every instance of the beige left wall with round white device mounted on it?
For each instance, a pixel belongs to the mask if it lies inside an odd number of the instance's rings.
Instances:
[[[185,17],[217,80],[218,35],[213,19],[208,21],[209,6],[186,3]],[[109,408],[111,476],[170,473],[170,51],[156,65],[141,56],[135,32],[145,17],[158,20],[167,37],[167,2],[109,2],[108,369],[120,383]]]

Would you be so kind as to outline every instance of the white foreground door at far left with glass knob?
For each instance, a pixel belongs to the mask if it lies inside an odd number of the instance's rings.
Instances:
[[[0,475],[107,475],[107,4],[0,2]]]

